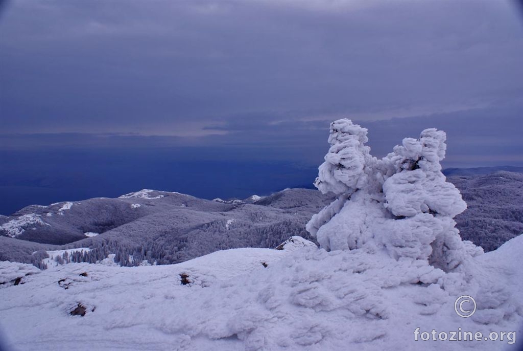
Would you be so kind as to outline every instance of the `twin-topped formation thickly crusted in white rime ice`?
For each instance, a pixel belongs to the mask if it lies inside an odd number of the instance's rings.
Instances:
[[[338,198],[306,229],[327,250],[383,249],[391,257],[428,260],[445,271],[482,253],[462,241],[452,219],[467,208],[441,173],[446,135],[435,128],[405,138],[382,159],[370,155],[367,129],[350,119],[331,123],[331,147],[314,185]]]

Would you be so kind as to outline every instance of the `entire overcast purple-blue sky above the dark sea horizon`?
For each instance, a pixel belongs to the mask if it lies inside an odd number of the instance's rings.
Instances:
[[[435,126],[448,132],[447,166],[523,164],[516,3],[4,5],[2,150],[161,147],[316,165],[328,123],[349,117],[376,156]]]

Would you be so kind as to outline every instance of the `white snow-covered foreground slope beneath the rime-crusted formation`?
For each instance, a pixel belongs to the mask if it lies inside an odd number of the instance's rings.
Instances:
[[[506,337],[414,341],[414,331],[488,335],[522,321],[523,236],[454,273],[298,240],[294,249],[231,249],[169,266],[36,273],[2,262],[2,277],[24,276],[0,290],[2,331],[18,350],[503,350]],[[477,301],[470,318],[454,311],[463,294]]]

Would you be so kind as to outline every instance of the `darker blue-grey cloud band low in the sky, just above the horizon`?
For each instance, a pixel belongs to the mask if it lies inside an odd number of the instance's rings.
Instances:
[[[447,133],[445,167],[476,167],[514,164],[523,166],[523,106],[488,107],[387,120],[355,120],[369,130],[372,155],[383,157],[405,137],[417,138],[426,128]],[[283,120],[265,115],[226,121],[224,135],[198,138],[126,134],[32,134],[0,135],[5,149],[136,149],[171,150],[177,159],[201,160],[292,160],[317,166],[328,150],[331,120]],[[218,127],[210,127],[218,128]]]

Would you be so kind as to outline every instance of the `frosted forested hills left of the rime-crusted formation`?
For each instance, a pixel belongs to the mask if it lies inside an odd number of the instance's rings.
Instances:
[[[88,247],[75,259],[96,262],[115,254],[118,264],[133,266],[182,262],[219,249],[276,247],[294,235],[312,239],[305,223],[331,200],[306,189],[245,201],[145,189],[116,199],[27,206],[0,218],[0,260],[34,264],[44,251]]]

